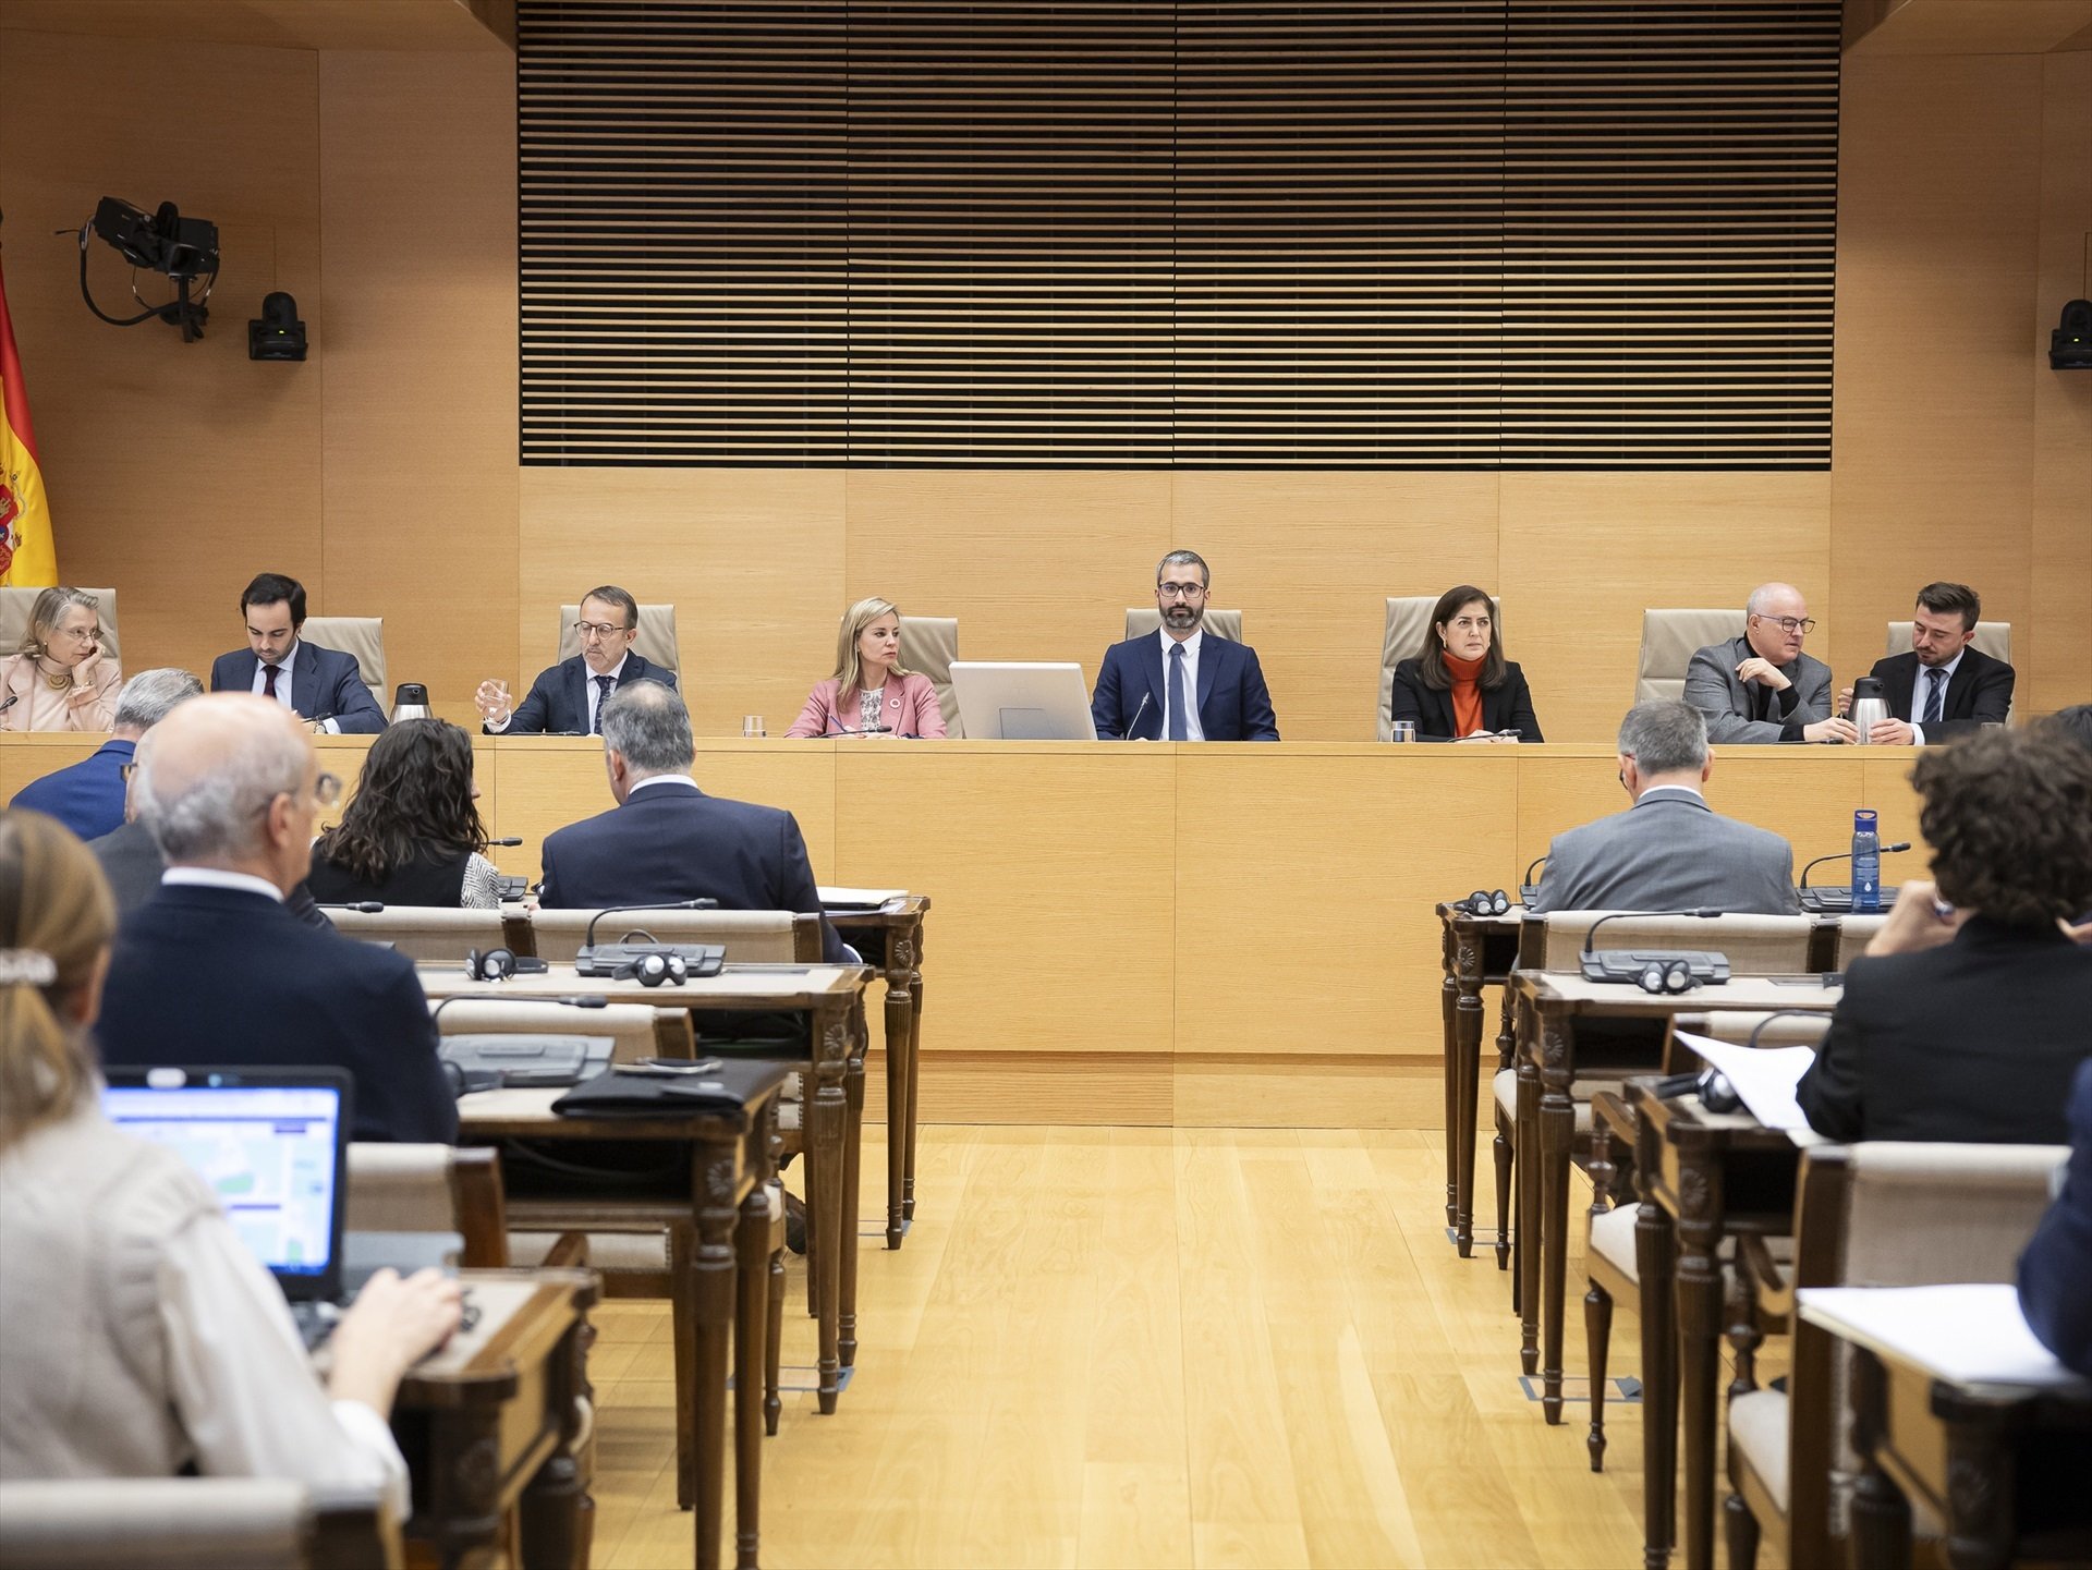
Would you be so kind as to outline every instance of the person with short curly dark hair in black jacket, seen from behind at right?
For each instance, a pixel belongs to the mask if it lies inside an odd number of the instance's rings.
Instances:
[[[1985,730],[1912,771],[1933,878],[1904,884],[1795,1089],[1833,1139],[2069,1144],[2092,1056],[2092,753]]]

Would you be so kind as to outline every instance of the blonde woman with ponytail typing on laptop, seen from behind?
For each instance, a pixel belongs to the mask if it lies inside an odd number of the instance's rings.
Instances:
[[[0,813],[0,1480],[291,1478],[408,1509],[385,1417],[458,1284],[379,1271],[322,1388],[282,1292],[169,1146],[103,1116],[88,1031],[115,909],[88,849]]]

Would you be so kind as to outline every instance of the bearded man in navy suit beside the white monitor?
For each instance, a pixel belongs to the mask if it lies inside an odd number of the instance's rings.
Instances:
[[[1205,633],[1205,560],[1172,550],[1155,569],[1163,625],[1105,650],[1090,696],[1096,734],[1144,742],[1276,742],[1257,650]]]

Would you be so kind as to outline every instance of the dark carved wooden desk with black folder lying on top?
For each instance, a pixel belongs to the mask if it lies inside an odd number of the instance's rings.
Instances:
[[[778,1079],[782,1085],[782,1077]],[[761,1516],[764,1367],[770,1334],[770,1133],[776,1085],[732,1114],[676,1118],[571,1118],[552,1110],[565,1091],[498,1089],[458,1100],[462,1139],[644,1139],[690,1146],[688,1223],[692,1344],[678,1348],[676,1367],[686,1376],[676,1390],[678,1501],[695,1511],[697,1566],[720,1564],[726,1495],[726,1371],[732,1338],[734,1371],[734,1518],[736,1564],[755,1566]],[[674,1200],[669,1202],[676,1204]],[[657,1204],[644,1208],[657,1217]],[[617,1196],[588,1196],[571,1204],[519,1200],[510,1217],[525,1227],[579,1227],[634,1215]],[[849,1240],[856,1244],[856,1238]],[[592,1277],[590,1277],[592,1279]],[[824,1376],[826,1378],[826,1376]],[[774,1396],[772,1396],[774,1399]],[[833,1411],[833,1392],[822,1411]],[[536,1564],[536,1560],[527,1560]],[[554,1560],[544,1560],[552,1564]],[[559,1560],[565,1564],[565,1560]],[[582,1560],[586,1562],[586,1560]]]

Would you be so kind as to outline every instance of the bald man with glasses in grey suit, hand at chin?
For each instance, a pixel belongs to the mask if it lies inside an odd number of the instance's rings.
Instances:
[[[1713,742],[1856,742],[1830,713],[1830,667],[1801,652],[1816,619],[1793,583],[1759,583],[1745,604],[1743,638],[1709,644],[1686,667],[1686,702],[1707,717]]]

